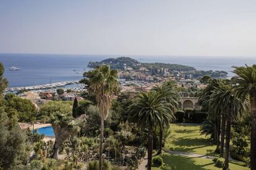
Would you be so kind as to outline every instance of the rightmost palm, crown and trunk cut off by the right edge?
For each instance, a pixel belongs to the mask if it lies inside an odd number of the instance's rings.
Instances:
[[[233,71],[236,73],[238,78],[234,81],[234,91],[237,96],[246,98],[247,95],[250,97],[250,109],[252,110],[252,132],[250,139],[250,168],[256,169],[256,65],[252,67],[234,67]]]

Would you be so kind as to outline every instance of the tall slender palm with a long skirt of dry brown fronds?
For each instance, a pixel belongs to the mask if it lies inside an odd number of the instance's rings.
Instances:
[[[104,120],[108,118],[111,101],[114,94],[116,94],[119,89],[117,70],[111,70],[107,65],[101,65],[100,67],[95,67],[91,71],[85,72],[83,76],[86,78],[83,81],[88,84],[88,92],[96,97],[97,106],[101,116],[99,164],[100,169],[102,169]]]

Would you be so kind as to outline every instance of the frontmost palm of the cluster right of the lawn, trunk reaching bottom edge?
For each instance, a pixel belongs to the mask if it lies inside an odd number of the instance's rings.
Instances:
[[[231,123],[237,121],[249,110],[249,102],[237,98],[233,93],[232,84],[223,81],[218,89],[211,94],[210,105],[213,110],[221,110],[226,113],[226,143],[224,170],[229,167],[229,142]]]

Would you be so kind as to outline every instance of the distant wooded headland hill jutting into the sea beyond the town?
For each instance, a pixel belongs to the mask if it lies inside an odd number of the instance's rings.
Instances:
[[[118,57],[116,59],[110,58],[106,60],[102,60],[101,62],[90,62],[88,67],[94,68],[98,65],[110,65],[112,69],[119,69],[124,70],[124,67],[131,67],[134,70],[140,67],[146,68],[168,68],[169,70],[176,70],[176,71],[194,71],[194,67],[189,67],[186,65],[179,65],[179,64],[170,64],[170,63],[140,63],[135,59],[131,59],[130,57]]]

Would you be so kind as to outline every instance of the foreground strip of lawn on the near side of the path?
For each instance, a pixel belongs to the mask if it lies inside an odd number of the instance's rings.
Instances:
[[[178,169],[178,170],[221,170],[222,168],[216,168],[215,163],[210,159],[205,158],[189,158],[186,156],[177,156],[163,154],[164,166],[162,168],[152,168],[155,170],[159,169]],[[229,163],[229,168],[232,170],[249,170],[244,166],[238,166],[236,164]]]

